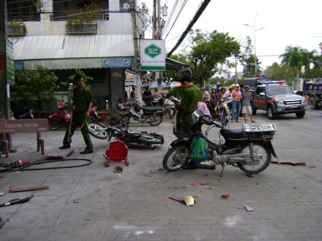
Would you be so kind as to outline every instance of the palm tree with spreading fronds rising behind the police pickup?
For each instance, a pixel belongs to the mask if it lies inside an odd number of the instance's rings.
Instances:
[[[296,78],[299,80],[302,67],[309,66],[311,63],[309,54],[307,49],[290,45],[286,47],[285,53],[280,55],[279,58],[282,58],[282,63],[290,65],[296,71]]]

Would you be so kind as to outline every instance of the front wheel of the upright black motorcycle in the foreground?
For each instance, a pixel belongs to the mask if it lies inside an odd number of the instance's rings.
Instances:
[[[176,171],[190,160],[190,151],[185,144],[175,146],[163,158],[163,168],[167,171]]]

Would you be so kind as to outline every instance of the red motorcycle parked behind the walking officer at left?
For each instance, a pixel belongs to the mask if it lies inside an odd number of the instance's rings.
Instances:
[[[58,110],[56,110],[56,113],[48,117],[48,125],[50,130],[57,130],[61,127],[62,123],[67,126],[71,116],[66,112],[66,108],[67,103],[61,101],[59,102]],[[90,111],[90,123],[97,123],[99,120],[101,120],[101,117],[97,115],[96,109],[97,107],[93,107]]]

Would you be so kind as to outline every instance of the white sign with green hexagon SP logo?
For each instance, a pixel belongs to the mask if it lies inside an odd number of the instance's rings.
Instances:
[[[140,70],[165,71],[166,47],[162,39],[140,40]]]

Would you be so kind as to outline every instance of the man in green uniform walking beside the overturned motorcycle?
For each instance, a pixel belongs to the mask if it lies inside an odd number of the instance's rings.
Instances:
[[[72,120],[67,126],[64,140],[60,149],[70,148],[72,142],[72,136],[78,126],[82,132],[86,148],[85,151],[80,154],[93,153],[93,144],[91,141],[90,133],[88,130],[88,118],[90,117],[90,110],[93,104],[93,97],[90,90],[83,87],[84,77],[83,75],[76,74],[74,78],[77,88],[73,90],[73,103],[70,105],[71,111],[73,111]]]

